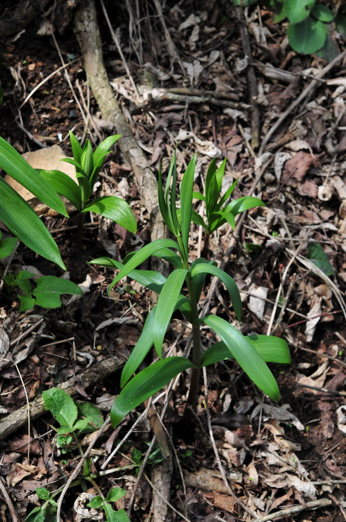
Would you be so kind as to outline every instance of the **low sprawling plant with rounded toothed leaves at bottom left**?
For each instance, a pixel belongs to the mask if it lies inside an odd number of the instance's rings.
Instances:
[[[83,456],[80,436],[101,428],[103,425],[101,411],[89,402],[75,402],[61,388],[51,388],[43,392],[42,397],[45,408],[53,414],[53,417],[60,425],[57,430],[56,443],[61,453],[67,453],[74,444],[78,447],[81,456]],[[104,497],[94,480],[97,476],[91,473],[91,465],[91,459],[84,460],[83,477],[73,482],[71,487],[83,481],[90,482],[99,494],[91,499],[88,506],[95,509],[103,509],[107,522],[130,522],[123,509],[115,511],[111,505],[113,502],[121,499],[126,491],[121,488],[113,488]],[[26,518],[26,522],[56,522],[57,503],[53,499],[62,489],[63,487],[53,493],[50,493],[45,488],[36,489],[39,498],[45,502],[42,506],[35,507],[31,511]]]

